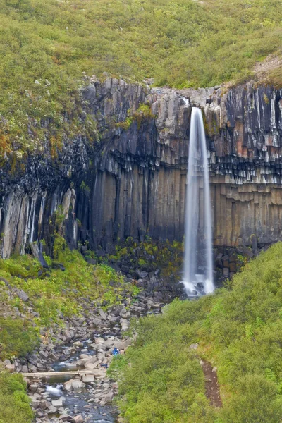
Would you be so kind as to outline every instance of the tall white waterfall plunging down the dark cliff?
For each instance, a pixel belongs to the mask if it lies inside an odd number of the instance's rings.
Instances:
[[[212,293],[212,210],[202,111],[192,107],[185,209],[183,284],[188,295]]]

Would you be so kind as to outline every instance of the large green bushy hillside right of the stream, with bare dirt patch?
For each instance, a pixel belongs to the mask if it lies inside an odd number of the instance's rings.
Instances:
[[[278,243],[214,295],[175,300],[163,314],[135,322],[135,345],[111,369],[125,422],[281,421],[281,259]],[[221,409],[204,398],[199,357],[218,369]]]

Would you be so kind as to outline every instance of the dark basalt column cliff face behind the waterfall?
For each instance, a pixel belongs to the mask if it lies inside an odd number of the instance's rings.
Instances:
[[[90,80],[83,96],[99,142],[77,136],[56,157],[46,145],[24,169],[12,171],[11,160],[1,168],[2,257],[42,239],[48,250],[56,213],[70,247],[181,239],[191,106],[204,112],[215,245],[282,239],[280,90],[150,90],[109,78]]]

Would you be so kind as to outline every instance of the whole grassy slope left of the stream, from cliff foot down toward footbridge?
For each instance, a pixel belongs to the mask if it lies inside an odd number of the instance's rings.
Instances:
[[[87,312],[85,298],[89,304],[109,307],[119,304],[124,295],[130,298],[138,292],[136,286],[125,283],[123,276],[106,264],[87,264],[78,251],[66,248],[59,250],[57,256],[56,262],[46,257],[50,268],[43,273],[39,262],[30,255],[0,259],[0,359],[27,354],[35,347],[40,328],[63,325],[63,317]],[[57,268],[58,263],[63,264],[64,271]],[[20,300],[13,290],[8,294],[4,281],[12,288],[24,290],[28,302]],[[25,319],[17,318],[14,307]]]

